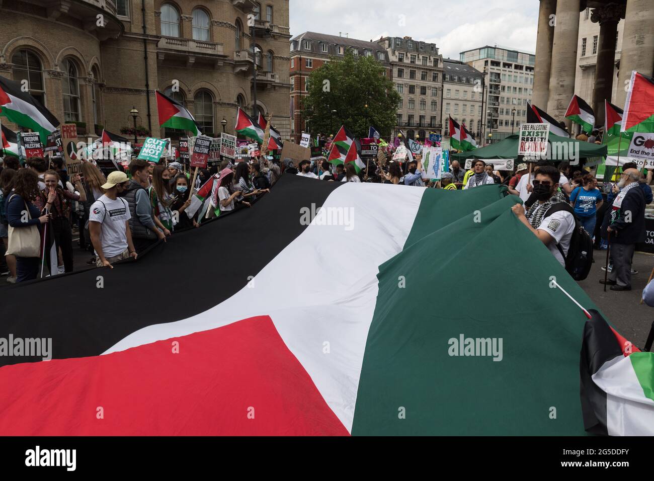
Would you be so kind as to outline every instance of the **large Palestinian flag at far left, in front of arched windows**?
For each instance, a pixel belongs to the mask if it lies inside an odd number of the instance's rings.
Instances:
[[[0,77],[0,115],[14,124],[39,132],[46,144],[48,134],[57,129],[59,120],[29,92],[23,92],[18,82]]]

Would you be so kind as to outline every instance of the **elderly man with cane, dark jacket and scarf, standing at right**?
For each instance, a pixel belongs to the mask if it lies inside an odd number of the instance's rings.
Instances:
[[[631,290],[634,247],[645,241],[645,196],[638,187],[641,176],[638,169],[625,169],[617,185],[621,190],[604,214],[602,232],[606,232],[613,258],[611,274],[600,279],[604,289],[610,285],[611,291]]]

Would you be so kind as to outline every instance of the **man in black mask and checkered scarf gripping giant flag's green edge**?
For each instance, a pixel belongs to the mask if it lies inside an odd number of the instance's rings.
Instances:
[[[538,237],[552,255],[565,267],[564,255],[568,255],[570,240],[575,228],[575,219],[572,212],[557,211],[547,215],[547,211],[557,203],[551,202],[557,188],[559,188],[559,171],[553,166],[543,166],[538,169],[534,179],[534,194],[538,197],[538,204],[530,209],[530,217],[525,215],[525,209],[520,204],[511,207],[518,219]],[[523,176],[525,177],[525,176]],[[536,225],[536,227],[534,227]],[[559,250],[563,251],[563,255]]]

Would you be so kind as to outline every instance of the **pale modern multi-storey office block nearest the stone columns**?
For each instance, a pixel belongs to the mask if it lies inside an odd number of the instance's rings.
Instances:
[[[504,140],[519,131],[526,122],[527,103],[534,88],[534,54],[487,45],[461,52],[460,60],[483,73],[484,128],[479,132],[483,137],[480,145]]]

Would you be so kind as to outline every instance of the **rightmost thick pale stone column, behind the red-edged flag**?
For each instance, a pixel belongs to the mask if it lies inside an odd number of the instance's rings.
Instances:
[[[631,72],[652,75],[654,68],[654,8],[651,0],[627,0],[625,29],[615,105],[622,108],[627,99],[625,86]]]

